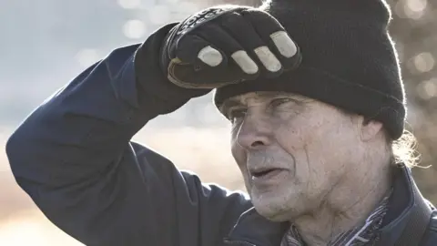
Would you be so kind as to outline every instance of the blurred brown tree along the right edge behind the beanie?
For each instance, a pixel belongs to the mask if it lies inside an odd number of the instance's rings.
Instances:
[[[437,2],[389,0],[391,35],[400,52],[402,77],[409,107],[408,121],[418,139],[421,166],[437,158]],[[413,169],[422,191],[437,202],[436,166]]]

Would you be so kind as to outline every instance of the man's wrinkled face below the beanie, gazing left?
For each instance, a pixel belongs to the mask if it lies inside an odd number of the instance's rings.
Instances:
[[[329,202],[348,169],[357,169],[349,165],[357,124],[338,108],[258,92],[229,98],[221,111],[232,121],[231,151],[251,200],[270,220],[292,220]]]

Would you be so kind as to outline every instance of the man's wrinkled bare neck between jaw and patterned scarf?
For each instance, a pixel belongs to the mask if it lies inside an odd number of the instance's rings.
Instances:
[[[310,246],[327,245],[340,233],[360,226],[391,189],[386,163],[359,175],[346,175],[317,210],[292,221],[302,239]]]

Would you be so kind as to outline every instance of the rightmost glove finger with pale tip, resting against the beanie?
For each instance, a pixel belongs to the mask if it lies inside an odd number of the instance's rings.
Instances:
[[[254,26],[259,36],[269,44],[270,49],[277,55],[285,70],[290,70],[300,64],[299,46],[290,38],[278,20],[259,10],[242,11],[241,15]]]

